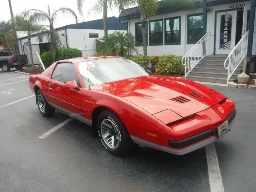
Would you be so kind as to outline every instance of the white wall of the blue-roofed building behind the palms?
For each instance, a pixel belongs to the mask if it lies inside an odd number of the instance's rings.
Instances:
[[[112,34],[116,30],[108,30],[108,34]],[[123,31],[121,31],[123,32]],[[125,31],[126,32],[126,31]],[[89,33],[98,33],[98,38],[89,38]],[[91,56],[96,53],[96,39],[104,37],[104,30],[98,29],[67,29],[68,46],[77,48],[82,51],[83,56],[85,54],[84,35],[86,42],[86,54]]]

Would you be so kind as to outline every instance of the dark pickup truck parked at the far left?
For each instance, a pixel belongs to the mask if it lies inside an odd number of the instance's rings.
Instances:
[[[27,55],[20,55],[22,65],[27,64]],[[20,69],[18,56],[10,55],[8,51],[0,51],[0,67],[4,72],[10,71],[10,68]]]

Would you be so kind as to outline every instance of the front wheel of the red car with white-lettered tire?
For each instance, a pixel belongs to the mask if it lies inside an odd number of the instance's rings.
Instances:
[[[113,112],[100,113],[97,129],[100,141],[111,154],[122,156],[132,150],[134,143],[120,118]]]

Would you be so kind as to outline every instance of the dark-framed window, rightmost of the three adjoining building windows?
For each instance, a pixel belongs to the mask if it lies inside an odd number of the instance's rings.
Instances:
[[[180,17],[164,19],[165,45],[180,45]]]

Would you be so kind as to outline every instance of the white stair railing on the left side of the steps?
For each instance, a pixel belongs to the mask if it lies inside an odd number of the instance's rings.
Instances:
[[[208,32],[182,58],[182,64],[185,66],[185,79],[204,56],[213,54],[213,44],[214,35]]]

